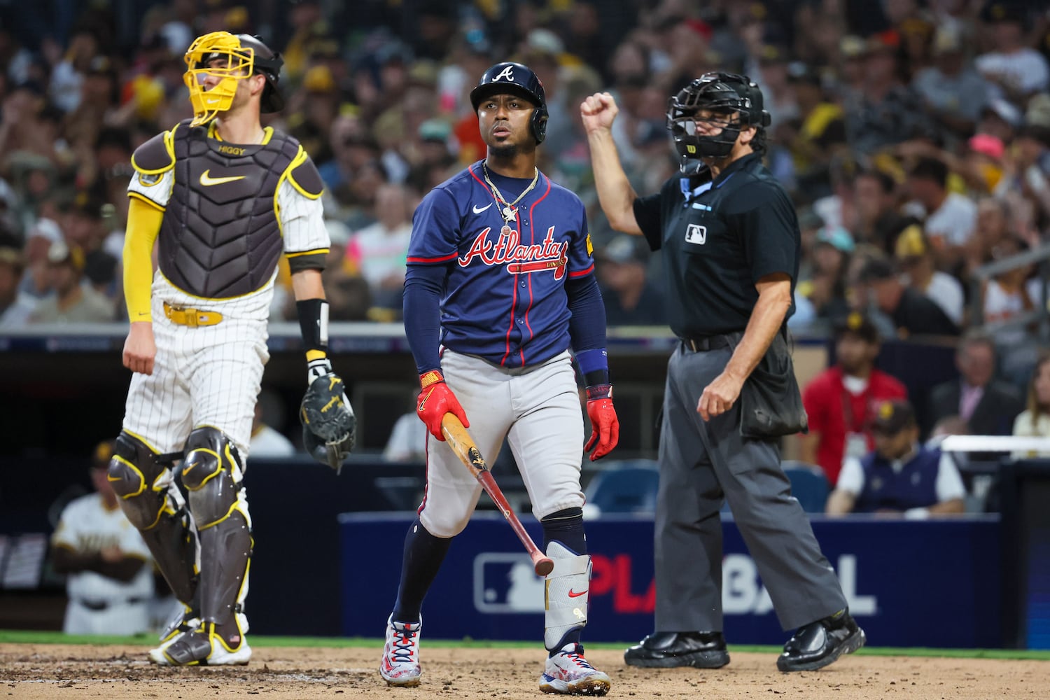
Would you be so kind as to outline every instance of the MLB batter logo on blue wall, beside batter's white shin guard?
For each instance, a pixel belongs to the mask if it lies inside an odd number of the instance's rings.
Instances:
[[[474,559],[474,607],[480,613],[542,613],[544,579],[527,554],[483,552]]]

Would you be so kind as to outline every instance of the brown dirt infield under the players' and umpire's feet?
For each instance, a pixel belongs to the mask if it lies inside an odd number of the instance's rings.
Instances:
[[[0,698],[539,697],[543,653],[521,649],[423,646],[423,683],[392,688],[379,678],[379,648],[254,650],[240,667],[161,669],[141,646],[0,644]],[[622,652],[588,659],[612,677],[609,697],[806,700],[986,700],[1050,698],[1050,662],[854,655],[819,672],[781,674],[773,654],[730,650],[718,671],[650,671],[624,665]]]

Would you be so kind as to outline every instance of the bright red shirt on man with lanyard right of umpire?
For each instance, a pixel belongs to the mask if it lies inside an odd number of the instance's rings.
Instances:
[[[810,430],[819,432],[817,464],[834,487],[842,470],[846,437],[863,434],[867,449],[875,449],[872,438],[872,418],[879,403],[886,399],[907,399],[907,389],[890,375],[872,369],[867,387],[860,394],[850,394],[842,383],[842,368],[838,365],[820,373],[802,393],[802,404],[810,419]]]

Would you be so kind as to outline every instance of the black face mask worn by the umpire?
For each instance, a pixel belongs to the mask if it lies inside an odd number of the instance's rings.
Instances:
[[[700,110],[723,119],[721,131],[701,135],[696,128],[696,114]],[[667,128],[681,157],[682,172],[696,158],[729,155],[740,129],[755,127],[761,132],[769,125],[770,113],[762,109],[762,91],[747,76],[704,73],[667,103]]]

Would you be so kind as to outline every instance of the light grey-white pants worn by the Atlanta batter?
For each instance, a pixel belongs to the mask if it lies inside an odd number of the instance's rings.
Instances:
[[[507,438],[537,518],[584,505],[583,410],[568,352],[539,366],[506,369],[446,349],[441,370],[489,466]],[[419,518],[430,534],[452,537],[466,527],[481,485],[447,443],[427,434],[426,452]]]

